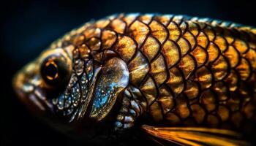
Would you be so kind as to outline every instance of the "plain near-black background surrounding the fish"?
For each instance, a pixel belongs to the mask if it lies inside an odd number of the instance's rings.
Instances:
[[[12,76],[50,42],[80,24],[118,12],[158,12],[256,26],[252,1],[1,1],[0,145],[79,145],[34,118],[16,99]]]

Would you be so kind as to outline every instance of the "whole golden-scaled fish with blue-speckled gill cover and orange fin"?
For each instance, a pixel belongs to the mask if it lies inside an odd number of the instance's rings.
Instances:
[[[252,26],[121,13],[64,34],[13,88],[45,123],[89,142],[141,131],[157,145],[250,145],[255,70]]]

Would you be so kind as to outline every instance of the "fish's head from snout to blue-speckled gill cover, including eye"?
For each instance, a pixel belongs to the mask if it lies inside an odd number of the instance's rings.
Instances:
[[[120,58],[96,61],[94,55],[84,44],[45,50],[13,77],[13,88],[53,128],[94,137],[99,125],[103,132],[113,124],[113,107],[129,81]]]

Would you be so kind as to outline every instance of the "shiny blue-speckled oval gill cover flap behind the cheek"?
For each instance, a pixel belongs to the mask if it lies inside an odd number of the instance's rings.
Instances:
[[[129,72],[120,58],[112,58],[97,74],[90,117],[102,120],[108,115],[119,93],[127,87]]]

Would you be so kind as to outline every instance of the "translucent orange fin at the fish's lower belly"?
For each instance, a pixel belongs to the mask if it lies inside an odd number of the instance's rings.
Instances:
[[[249,145],[241,134],[217,128],[142,126],[147,134],[176,145]]]

